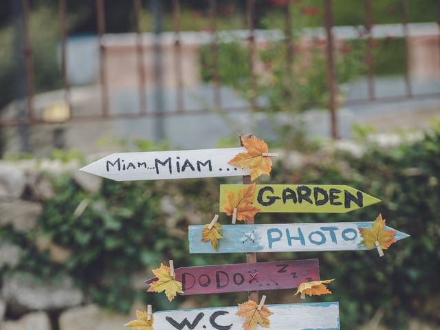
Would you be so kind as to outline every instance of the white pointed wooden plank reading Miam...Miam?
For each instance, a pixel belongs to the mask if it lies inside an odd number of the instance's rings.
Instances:
[[[245,148],[113,153],[80,170],[116,181],[249,175],[228,164]]]

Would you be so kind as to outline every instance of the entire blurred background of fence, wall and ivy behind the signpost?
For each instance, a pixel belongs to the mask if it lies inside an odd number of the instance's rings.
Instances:
[[[0,329],[122,329],[145,309],[247,294],[146,294],[188,253],[188,225],[241,178],[115,182],[78,168],[115,151],[280,153],[259,182],[348,184],[382,203],[257,223],[373,221],[411,235],[320,259],[342,329],[440,329],[440,1],[1,0]],[[200,197],[203,196],[203,199]],[[220,222],[227,222],[221,215]],[[215,263],[242,263],[219,254]],[[267,303],[298,302],[289,290]]]

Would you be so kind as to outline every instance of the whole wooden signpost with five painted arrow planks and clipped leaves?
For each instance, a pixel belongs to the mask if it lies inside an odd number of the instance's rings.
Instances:
[[[156,277],[145,283],[148,292],[177,294],[249,292],[249,300],[236,307],[137,311],[133,330],[338,330],[338,303],[265,305],[260,290],[297,289],[296,294],[331,294],[320,281],[317,259],[258,263],[256,252],[371,250],[380,255],[392,243],[408,237],[374,222],[255,224],[258,212],[351,212],[380,201],[344,185],[252,184],[272,168],[268,146],[256,137],[241,135],[241,148],[148,153],[115,153],[82,168],[87,173],[117,181],[241,176],[243,184],[221,185],[221,212],[244,224],[221,225],[216,215],[206,225],[188,228],[190,253],[246,253],[246,263],[178,267],[160,265]],[[230,221],[228,221],[231,223]],[[276,221],[274,221],[276,222]],[[292,293],[293,295],[293,293]]]

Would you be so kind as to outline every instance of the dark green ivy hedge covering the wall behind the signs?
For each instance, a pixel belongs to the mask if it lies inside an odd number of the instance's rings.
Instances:
[[[439,321],[432,298],[440,294],[440,130],[418,142],[405,142],[386,150],[371,145],[363,157],[336,153],[325,161],[285,170],[276,164],[273,183],[349,184],[381,198],[382,203],[348,214],[259,214],[256,221],[373,221],[382,212],[393,228],[407,232],[379,258],[377,252],[305,252],[261,254],[259,260],[320,259],[322,278],[336,278],[333,296],[311,300],[338,300],[342,329],[357,329],[384,311],[393,329],[406,329],[412,316]],[[50,262],[32,249],[33,233],[19,235],[3,229],[28,247],[20,270],[41,276],[67,273],[76,278],[92,300],[128,311],[133,300],[148,298],[157,309],[173,309],[188,297],[168,303],[162,294],[146,294],[131,287],[131,275],[174,259],[178,266],[237,263],[244,254],[190,255],[188,224],[208,222],[218,210],[219,184],[236,179],[180,181],[104,181],[95,195],[84,192],[69,177],[54,182],[57,195],[45,203],[39,219],[41,231],[74,251],[65,265]],[[161,200],[173,201],[177,214],[162,211]],[[80,217],[72,214],[88,199]],[[224,214],[220,218],[225,222]],[[139,284],[139,283],[138,283]],[[268,302],[293,301],[293,292],[269,292]],[[286,298],[287,297],[287,298]],[[246,294],[195,296],[199,306],[236,304]]]

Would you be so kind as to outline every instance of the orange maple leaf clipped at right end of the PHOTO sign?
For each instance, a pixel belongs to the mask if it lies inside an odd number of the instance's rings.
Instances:
[[[362,236],[362,242],[364,246],[368,249],[373,249],[376,247],[376,242],[379,242],[380,247],[386,250],[391,244],[395,243],[394,235],[395,230],[385,230],[385,219],[382,219],[382,214],[379,214],[371,229],[360,228],[360,236]]]

